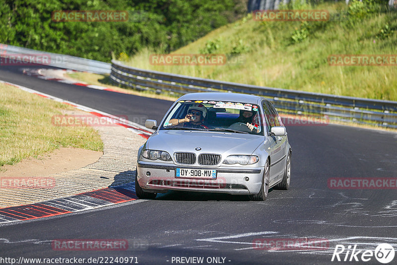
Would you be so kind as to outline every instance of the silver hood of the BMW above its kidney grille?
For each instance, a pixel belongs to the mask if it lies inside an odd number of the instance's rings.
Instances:
[[[265,140],[264,136],[207,131],[166,131],[153,133],[147,140],[146,148],[174,152],[252,154]],[[196,150],[200,147],[201,150]]]

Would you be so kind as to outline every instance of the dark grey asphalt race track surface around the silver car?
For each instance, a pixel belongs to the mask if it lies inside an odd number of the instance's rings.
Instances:
[[[0,67],[0,79],[113,115],[160,121],[171,105],[46,81],[23,75],[18,68]],[[176,263],[175,257],[203,257],[202,264],[214,264],[208,257],[222,257],[224,264],[233,265],[363,264],[331,262],[336,244],[374,251],[378,244],[389,243],[397,250],[396,189],[338,190],[327,184],[334,177],[397,178],[396,133],[334,125],[290,126],[287,132],[292,146],[291,188],[270,191],[265,202],[246,196],[170,192],[153,200],[12,223],[0,227],[0,257],[86,261],[136,257],[132,264],[192,264]],[[326,239],[329,248],[253,249],[254,240],[269,238]],[[128,239],[130,248],[53,250],[51,243],[58,239]],[[345,254],[340,255],[342,260]],[[397,257],[390,264],[396,263]],[[381,263],[372,257],[365,264]]]

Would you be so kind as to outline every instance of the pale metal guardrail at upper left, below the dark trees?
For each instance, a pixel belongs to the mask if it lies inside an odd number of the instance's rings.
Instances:
[[[110,73],[110,68],[111,68],[111,64],[109,63],[79,58],[75,56],[63,55],[63,54],[47,53],[47,52],[12,46],[12,45],[0,44],[0,56],[2,58],[9,58],[14,61],[17,61],[18,56],[19,58],[22,58],[23,56],[26,55],[32,55],[36,57],[46,55],[47,59],[43,65],[55,66],[55,67],[72,69],[77,71]]]

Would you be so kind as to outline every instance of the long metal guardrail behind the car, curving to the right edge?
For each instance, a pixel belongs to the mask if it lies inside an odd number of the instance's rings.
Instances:
[[[261,87],[217,81],[166,72],[138,69],[112,61],[111,80],[137,90],[192,92],[237,92],[263,96],[280,113],[326,116],[331,121],[355,122],[386,128],[397,128],[397,102],[310,93],[272,87]]]

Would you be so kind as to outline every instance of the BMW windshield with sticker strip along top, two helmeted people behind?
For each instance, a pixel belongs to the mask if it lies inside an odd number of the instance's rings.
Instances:
[[[203,130],[264,135],[256,104],[229,101],[178,101],[159,130]]]

